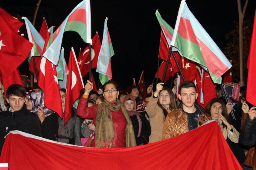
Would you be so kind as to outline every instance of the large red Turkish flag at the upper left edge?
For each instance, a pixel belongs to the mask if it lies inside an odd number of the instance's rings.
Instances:
[[[23,24],[0,8],[0,72],[7,78],[27,58],[33,44],[18,35]]]

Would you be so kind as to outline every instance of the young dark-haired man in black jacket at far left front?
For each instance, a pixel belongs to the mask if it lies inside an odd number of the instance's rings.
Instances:
[[[0,152],[5,135],[19,130],[32,135],[42,136],[37,114],[26,110],[26,91],[19,84],[12,84],[6,90],[7,111],[0,112]]]

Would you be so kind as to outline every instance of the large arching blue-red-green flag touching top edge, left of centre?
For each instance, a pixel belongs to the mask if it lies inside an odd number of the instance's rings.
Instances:
[[[79,3],[50,37],[43,56],[54,65],[58,65],[61,42],[66,31],[75,31],[84,42],[92,43],[90,0],[83,0]]]

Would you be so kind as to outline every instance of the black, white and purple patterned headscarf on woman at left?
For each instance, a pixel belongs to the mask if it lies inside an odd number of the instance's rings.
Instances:
[[[41,94],[43,95],[42,104],[39,105]],[[32,110],[30,110],[31,112],[37,113],[37,111],[39,110],[38,106],[41,106],[44,111],[44,117],[50,116],[53,113],[52,110],[44,106],[44,93],[42,92],[42,90],[28,92],[27,95],[29,96],[32,103]]]

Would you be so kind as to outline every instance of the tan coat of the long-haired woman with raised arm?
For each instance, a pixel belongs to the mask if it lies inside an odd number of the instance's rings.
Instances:
[[[153,98],[153,95],[149,98],[146,112],[149,116],[149,123],[151,126],[151,134],[149,136],[149,143],[162,140],[163,123],[165,121],[165,115],[162,108],[157,105],[159,95],[157,98]]]

